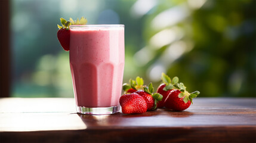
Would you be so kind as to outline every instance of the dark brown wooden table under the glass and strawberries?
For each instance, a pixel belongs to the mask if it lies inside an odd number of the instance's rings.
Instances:
[[[196,98],[186,111],[82,115],[73,98],[0,98],[0,142],[256,142],[256,98]]]

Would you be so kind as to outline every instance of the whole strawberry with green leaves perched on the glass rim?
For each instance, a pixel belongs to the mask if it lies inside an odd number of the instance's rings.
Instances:
[[[58,42],[60,42],[60,45],[65,51],[69,51],[69,43],[70,43],[70,30],[69,26],[71,24],[73,25],[82,25],[87,23],[87,19],[82,17],[80,20],[73,20],[72,18],[69,19],[69,21],[65,20],[64,18],[60,18],[62,26],[58,26],[58,32],[57,32],[57,38]]]

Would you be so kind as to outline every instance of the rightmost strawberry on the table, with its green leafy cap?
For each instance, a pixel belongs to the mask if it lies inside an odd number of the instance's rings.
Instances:
[[[182,89],[181,89],[182,90]],[[183,111],[189,108],[192,98],[199,94],[198,91],[189,94],[189,92],[181,92],[178,89],[172,90],[165,100],[165,107],[175,111]]]

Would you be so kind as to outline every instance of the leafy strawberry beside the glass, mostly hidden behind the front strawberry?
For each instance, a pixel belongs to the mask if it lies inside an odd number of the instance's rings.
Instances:
[[[129,83],[124,83],[124,94],[133,93],[144,88],[144,81],[141,77],[137,76],[135,80],[129,79]]]

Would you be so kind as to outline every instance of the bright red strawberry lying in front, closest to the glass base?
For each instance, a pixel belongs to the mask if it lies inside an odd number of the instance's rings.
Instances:
[[[125,94],[119,99],[124,114],[142,114],[147,111],[147,102],[138,94]]]

